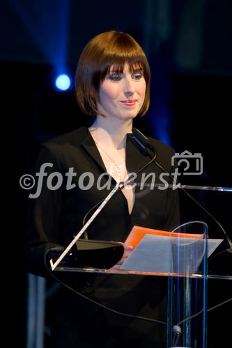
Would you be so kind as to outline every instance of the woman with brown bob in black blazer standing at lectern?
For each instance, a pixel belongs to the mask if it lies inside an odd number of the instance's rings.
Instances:
[[[24,255],[32,273],[47,276],[44,264],[47,249],[57,244],[68,245],[81,230],[86,213],[107,196],[109,187],[124,181],[129,173],[138,173],[137,185],[127,185],[111,198],[88,227],[88,238],[123,243],[134,225],[162,230],[178,225],[176,191],[139,187],[144,173],[155,173],[157,183],[161,173],[160,168],[150,163],[148,153],[130,141],[133,119],[148,110],[149,84],[148,61],[130,35],[116,31],[101,33],[84,48],[77,67],[77,102],[82,111],[96,117],[91,127],[81,127],[42,145],[36,172],[42,164],[49,163],[52,166],[47,166],[47,177],[59,172],[64,181],[59,189],[51,190],[43,180],[40,196],[30,202]],[[155,139],[150,142],[157,162],[173,173],[173,150]],[[143,167],[144,171],[140,171]],[[75,173],[72,189],[67,186],[66,173],[70,168]],[[84,173],[91,175],[87,177]],[[88,185],[90,177],[93,182]],[[120,267],[131,252],[130,246],[123,246],[123,258],[114,268]],[[154,319],[167,318],[161,306],[164,304],[165,308],[162,280],[95,274],[79,275],[73,281],[77,290],[116,310]],[[56,294],[55,303],[59,306],[54,306],[52,317],[52,347],[128,344],[166,347],[165,327],[113,315],[63,287]]]

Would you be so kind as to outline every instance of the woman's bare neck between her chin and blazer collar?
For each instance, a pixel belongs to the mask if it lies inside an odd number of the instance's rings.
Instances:
[[[132,119],[117,120],[103,116],[97,116],[93,125],[88,128],[93,138],[109,148],[120,150],[125,148],[126,134],[132,133]]]

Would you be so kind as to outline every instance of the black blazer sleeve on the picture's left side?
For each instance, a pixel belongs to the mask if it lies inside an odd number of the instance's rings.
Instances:
[[[45,167],[46,176],[43,177],[39,196],[29,198],[23,250],[23,260],[26,268],[29,272],[39,276],[47,276],[47,268],[44,262],[45,252],[59,244],[59,221],[63,194],[62,187],[55,190],[47,187],[47,177],[54,172],[61,173],[56,153],[47,146],[42,146],[33,171],[37,183],[38,175],[36,173],[40,172],[40,168],[44,164],[52,164],[52,167]],[[34,196],[36,189],[31,194]]]

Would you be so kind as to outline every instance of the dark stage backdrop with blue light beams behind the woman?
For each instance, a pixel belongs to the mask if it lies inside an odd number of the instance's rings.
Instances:
[[[150,109],[136,125],[176,152],[201,153],[203,175],[184,175],[183,183],[232,187],[231,10],[226,0],[134,0],[130,6],[125,1],[3,1],[1,188],[2,230],[9,237],[4,283],[10,294],[9,342],[16,336],[24,347],[26,335],[27,284],[20,252],[29,193],[20,188],[20,177],[30,173],[40,143],[90,122],[75,102],[74,82],[66,92],[54,88],[56,73],[65,70],[74,79],[79,54],[94,35],[111,29],[130,33],[144,48],[152,72]],[[220,204],[215,196],[200,199],[232,237],[229,194],[222,193]],[[190,209],[183,216],[187,221]],[[212,231],[220,233],[213,223]],[[212,303],[229,291],[223,287],[214,288]],[[226,306],[210,315],[208,347],[217,347],[217,325],[229,344],[229,324],[218,322],[229,313]]]

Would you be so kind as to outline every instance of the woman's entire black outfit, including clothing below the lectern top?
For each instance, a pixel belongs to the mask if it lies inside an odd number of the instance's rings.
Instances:
[[[157,153],[157,162],[167,168],[168,173],[173,173],[171,166],[173,150],[155,139],[150,141]],[[149,161],[150,157],[134,146],[130,136],[127,136],[127,170],[136,173]],[[84,216],[89,209],[109,193],[109,189],[99,190],[97,187],[98,178],[106,173],[106,168],[86,127],[44,143],[38,155],[35,173],[38,173],[45,163],[50,166],[45,168],[47,176],[43,177],[40,196],[29,198],[29,219],[24,244],[26,267],[31,273],[40,276],[47,274],[43,260],[45,250],[53,244],[68,245],[73,235],[77,235],[82,228]],[[65,173],[68,173],[70,168],[73,168],[73,172],[77,175],[72,177],[72,184],[75,187],[67,189],[68,176]],[[59,173],[60,182],[57,182],[57,175],[54,175],[54,172]],[[143,173],[146,175],[155,173],[155,183],[160,182],[159,176],[162,171],[155,164],[149,164],[139,173],[136,182],[141,182]],[[61,186],[58,185],[59,189],[52,190],[51,187],[50,189],[47,187],[49,180],[52,179],[49,175],[54,175],[53,187],[56,183],[61,183],[62,177],[63,182]],[[89,189],[82,189],[82,184],[88,187],[90,177],[93,184]],[[107,180],[107,175],[103,175],[101,186],[106,184]],[[149,180],[146,181],[148,182]],[[111,189],[115,184],[115,180],[111,178]],[[124,242],[134,225],[172,230],[178,223],[177,190],[150,190],[146,187],[141,189],[138,184],[132,213],[128,212],[125,196],[118,191],[89,226],[88,238]],[[82,276],[75,278],[77,290],[111,308],[165,320],[166,309],[158,306],[161,309],[155,312],[158,308],[157,303],[162,301],[165,292],[160,282],[162,283],[162,280],[148,276],[95,275],[84,279]],[[122,340],[136,342],[134,347],[140,347],[139,342],[141,347],[154,346],[154,342],[156,342],[155,347],[162,347],[157,343],[160,342],[159,334],[162,332],[160,327],[155,331],[153,324],[134,322],[132,319],[111,315],[67,291],[61,288],[59,294],[55,296],[59,304],[54,306],[51,322],[54,347],[118,347],[118,344],[122,344]],[[86,333],[86,328],[91,335]],[[164,333],[166,331],[167,328],[164,328]]]

